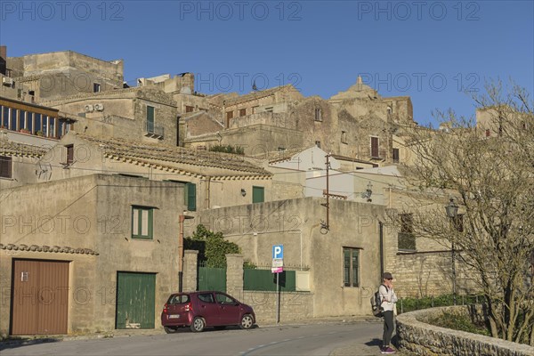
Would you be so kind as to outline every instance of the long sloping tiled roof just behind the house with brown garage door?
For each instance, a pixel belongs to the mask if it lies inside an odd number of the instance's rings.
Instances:
[[[103,139],[85,134],[77,134],[77,137],[85,142],[98,145],[104,155],[109,158],[155,164],[164,168],[182,168],[182,165],[190,165],[197,166],[200,172],[202,171],[202,167],[219,168],[226,171],[220,175],[271,176],[271,173],[262,167],[255,166],[238,155],[204,150],[190,150],[155,143],[129,142],[116,138]]]

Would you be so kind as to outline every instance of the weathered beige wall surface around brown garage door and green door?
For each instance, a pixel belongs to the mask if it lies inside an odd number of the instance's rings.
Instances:
[[[160,308],[178,287],[180,185],[93,174],[2,193],[0,334],[9,333],[12,263],[20,259],[69,263],[69,334],[116,328],[117,271],[156,273],[160,327]],[[155,207],[153,239],[132,237],[132,206]]]

